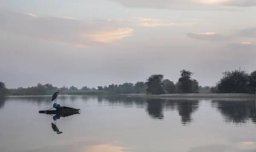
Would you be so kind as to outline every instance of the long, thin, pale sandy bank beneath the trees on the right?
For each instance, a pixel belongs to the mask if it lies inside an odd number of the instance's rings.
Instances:
[[[148,98],[233,98],[233,99],[256,99],[256,94],[247,94],[247,93],[184,93],[184,94],[160,94],[160,95],[146,95],[145,93],[130,93],[130,94],[119,94],[119,96],[131,96],[131,97],[148,97]]]

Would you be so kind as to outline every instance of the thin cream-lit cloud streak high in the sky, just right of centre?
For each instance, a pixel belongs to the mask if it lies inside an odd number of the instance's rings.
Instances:
[[[134,22],[137,26],[142,27],[166,27],[166,26],[184,26],[184,25],[192,25],[193,23],[164,23],[160,19],[151,19],[151,18],[134,18]]]

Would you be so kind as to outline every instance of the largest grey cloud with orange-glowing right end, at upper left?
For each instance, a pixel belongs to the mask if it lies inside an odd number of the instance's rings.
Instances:
[[[132,28],[115,21],[81,21],[70,17],[38,17],[29,13],[0,10],[0,30],[78,47],[116,44],[131,37]]]

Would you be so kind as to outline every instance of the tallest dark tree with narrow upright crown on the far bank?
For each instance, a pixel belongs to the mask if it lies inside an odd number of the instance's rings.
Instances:
[[[181,93],[193,93],[193,80],[191,79],[194,73],[189,70],[181,70],[179,82],[179,90]]]

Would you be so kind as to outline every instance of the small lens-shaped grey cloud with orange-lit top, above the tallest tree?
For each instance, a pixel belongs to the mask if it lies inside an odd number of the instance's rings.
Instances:
[[[188,33],[187,37],[191,39],[199,39],[199,40],[204,40],[204,41],[210,41],[210,42],[223,42],[229,37],[225,37],[221,34],[216,34],[214,32],[207,32],[207,33]]]

